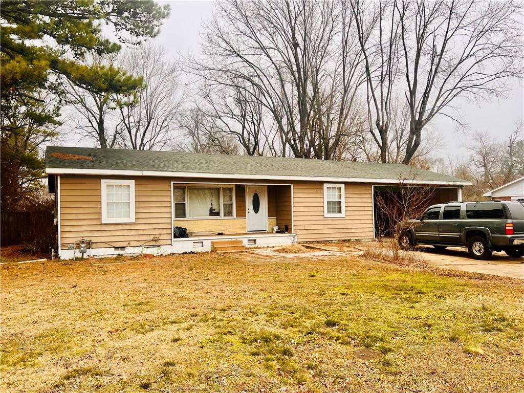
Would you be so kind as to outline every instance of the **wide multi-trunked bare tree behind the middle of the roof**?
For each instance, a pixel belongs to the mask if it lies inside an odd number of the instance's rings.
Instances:
[[[245,89],[275,122],[281,155],[332,159],[363,82],[352,20],[337,2],[220,2],[205,59],[192,59],[191,70]]]

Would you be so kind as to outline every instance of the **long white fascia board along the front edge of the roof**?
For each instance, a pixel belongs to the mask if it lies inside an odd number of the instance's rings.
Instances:
[[[281,176],[259,174],[228,174],[205,172],[169,172],[169,171],[138,171],[111,169],[72,169],[47,168],[48,174],[87,174],[99,176],[151,176],[151,177],[181,177],[181,178],[212,178],[212,179],[253,179],[253,180],[302,180],[302,181],[342,181],[348,183],[380,183],[380,184],[425,184],[425,185],[472,185],[465,180],[416,180],[416,179],[376,179],[376,178],[346,178],[325,176]]]

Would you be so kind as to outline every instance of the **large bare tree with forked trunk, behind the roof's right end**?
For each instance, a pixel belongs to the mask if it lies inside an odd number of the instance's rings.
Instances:
[[[403,163],[409,163],[434,116],[455,119],[449,111],[457,97],[501,95],[507,79],[522,74],[522,16],[511,0],[395,1],[395,7],[410,109]]]

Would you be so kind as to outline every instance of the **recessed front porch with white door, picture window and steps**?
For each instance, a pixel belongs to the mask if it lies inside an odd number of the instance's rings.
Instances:
[[[291,184],[172,182],[172,246],[204,252],[231,239],[246,247],[292,244],[292,192]]]

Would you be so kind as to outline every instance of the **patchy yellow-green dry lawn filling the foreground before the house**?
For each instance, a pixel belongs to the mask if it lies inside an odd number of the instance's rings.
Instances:
[[[237,258],[2,266],[0,390],[524,389],[518,280]]]

